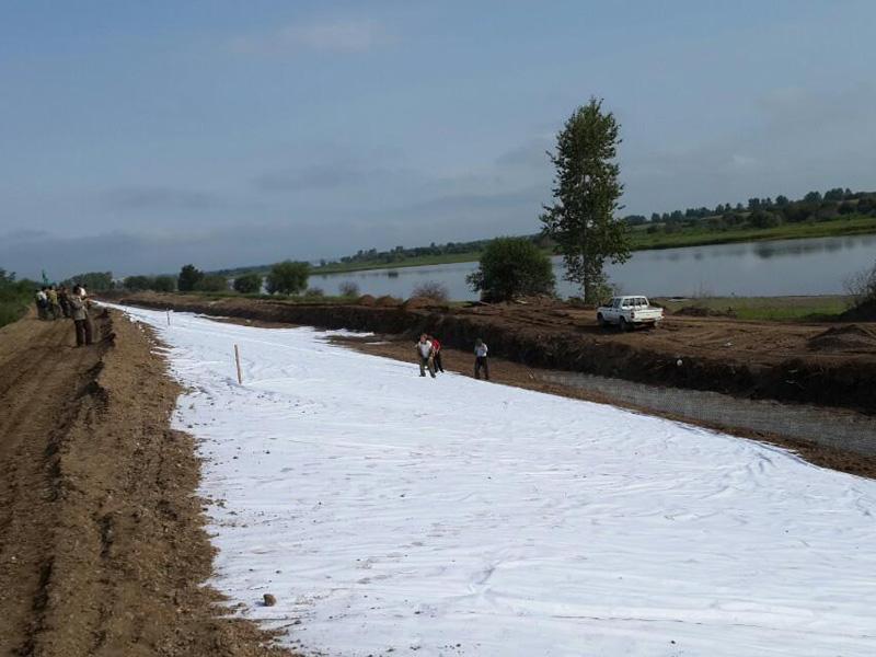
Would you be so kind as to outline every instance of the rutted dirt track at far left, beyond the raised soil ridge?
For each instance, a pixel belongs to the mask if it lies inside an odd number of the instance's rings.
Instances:
[[[15,349],[22,342],[26,347]],[[41,591],[51,570],[50,554],[41,539],[51,529],[47,507],[55,495],[53,439],[62,429],[80,373],[100,358],[100,347],[74,350],[71,344],[68,322],[28,318],[2,333],[0,380],[8,382],[0,393],[2,654],[14,647],[8,643],[11,637],[30,635],[33,610],[43,603]],[[21,647],[26,650],[26,643]]]

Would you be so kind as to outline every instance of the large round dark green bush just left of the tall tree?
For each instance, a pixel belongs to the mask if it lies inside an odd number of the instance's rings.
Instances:
[[[493,240],[465,280],[486,301],[553,293],[555,283],[551,260],[525,238]]]

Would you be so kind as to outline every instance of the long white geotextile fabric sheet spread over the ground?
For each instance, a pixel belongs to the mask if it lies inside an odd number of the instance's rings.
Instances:
[[[126,310],[188,388],[174,422],[222,500],[212,584],[306,654],[876,655],[876,482],[420,379],[413,343],[402,364],[309,328]]]

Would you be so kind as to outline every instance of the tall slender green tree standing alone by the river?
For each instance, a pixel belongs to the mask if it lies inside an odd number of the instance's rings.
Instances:
[[[554,204],[544,206],[543,231],[563,253],[566,279],[581,286],[586,303],[598,303],[606,288],[604,264],[630,257],[630,235],[614,217],[623,185],[615,162],[620,126],[602,101],[578,107],[556,135],[549,153],[556,169]]]

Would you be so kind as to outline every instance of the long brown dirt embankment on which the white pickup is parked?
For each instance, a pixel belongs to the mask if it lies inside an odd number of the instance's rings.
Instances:
[[[656,331],[622,334],[600,330],[592,311],[562,303],[449,309],[153,293],[116,300],[326,328],[407,335],[425,331],[461,349],[483,337],[493,354],[531,367],[876,412],[876,338],[861,337],[872,333],[869,327],[856,332],[854,341],[840,337],[821,344],[818,337],[837,325],[670,316]]]

